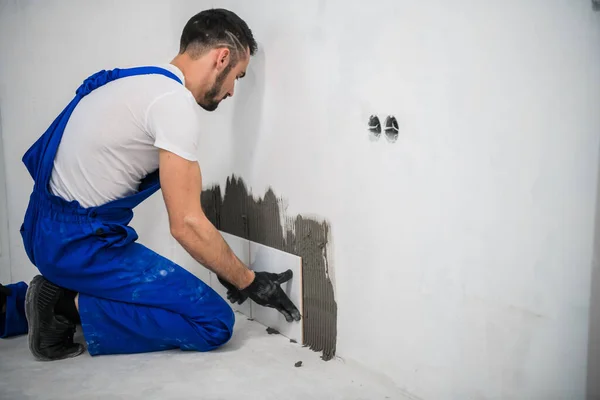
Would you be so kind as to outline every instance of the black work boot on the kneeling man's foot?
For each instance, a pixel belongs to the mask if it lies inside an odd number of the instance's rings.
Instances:
[[[27,289],[29,350],[40,361],[62,360],[83,353],[83,346],[73,342],[75,323],[54,312],[63,292],[64,289],[41,275],[33,278]]]

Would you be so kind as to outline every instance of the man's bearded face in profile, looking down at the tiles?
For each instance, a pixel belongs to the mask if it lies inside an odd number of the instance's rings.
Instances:
[[[246,75],[249,63],[250,54],[245,54],[235,65],[231,63],[231,58],[229,58],[227,64],[216,72],[212,85],[203,98],[198,101],[198,104],[206,111],[216,110],[221,101],[233,96],[235,83],[239,78]]]

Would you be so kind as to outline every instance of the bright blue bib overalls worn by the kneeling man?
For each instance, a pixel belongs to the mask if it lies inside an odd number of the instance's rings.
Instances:
[[[49,191],[54,157],[67,121],[94,89],[133,75],[161,74],[156,67],[100,71],[25,153],[34,188],[21,226],[25,251],[49,281],[79,293],[81,326],[91,355],[164,349],[208,351],[233,333],[231,307],[179,265],[136,243],[133,208],[160,188],[158,171],[136,194],[82,208]],[[200,199],[198,199],[200,201]]]

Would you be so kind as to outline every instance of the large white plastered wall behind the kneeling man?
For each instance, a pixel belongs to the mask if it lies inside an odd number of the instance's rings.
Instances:
[[[330,221],[338,354],[423,399],[585,398],[600,148],[588,0],[0,4],[15,280],[34,271],[23,152],[86,75],[169,61],[185,21],[218,4],[261,52],[206,117],[205,182],[238,173]],[[397,143],[369,140],[371,113],[396,115]],[[142,239],[182,257],[159,196],[144,207]]]

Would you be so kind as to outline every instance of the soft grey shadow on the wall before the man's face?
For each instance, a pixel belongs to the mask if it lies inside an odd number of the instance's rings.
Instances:
[[[260,47],[243,78],[244,90],[235,94],[233,129],[233,154],[238,171],[252,167],[254,149],[260,132],[260,119],[265,93],[265,53]]]

